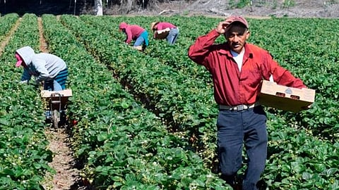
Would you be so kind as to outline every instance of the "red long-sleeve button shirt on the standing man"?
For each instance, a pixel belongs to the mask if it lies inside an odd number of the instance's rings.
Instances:
[[[282,68],[268,51],[254,44],[245,44],[242,70],[232,58],[230,46],[214,44],[220,34],[216,30],[198,37],[189,47],[192,61],[204,65],[213,77],[215,102],[225,106],[251,105],[258,100],[261,81],[273,80],[287,87],[306,88],[302,80]]]

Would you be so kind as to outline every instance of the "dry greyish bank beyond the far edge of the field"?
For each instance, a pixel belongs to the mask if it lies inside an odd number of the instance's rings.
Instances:
[[[232,2],[236,3],[232,3]],[[167,1],[152,8],[130,11],[130,15],[210,15],[227,17],[243,15],[251,18],[339,18],[339,0],[253,0],[243,8],[239,0]],[[288,3],[290,2],[290,4]],[[106,10],[106,11],[105,11]],[[107,14],[119,14],[118,9],[105,9]]]

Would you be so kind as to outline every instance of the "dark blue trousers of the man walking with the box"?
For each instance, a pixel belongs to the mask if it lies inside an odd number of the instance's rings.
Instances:
[[[243,143],[248,158],[242,189],[257,189],[266,164],[266,113],[261,106],[248,110],[220,110],[218,115],[218,158],[223,179],[234,185],[242,167]]]

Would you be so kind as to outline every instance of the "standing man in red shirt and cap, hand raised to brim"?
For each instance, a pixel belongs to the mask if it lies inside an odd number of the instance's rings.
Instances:
[[[226,41],[214,44],[220,34]],[[242,167],[243,143],[248,158],[242,189],[258,189],[256,184],[264,170],[267,156],[266,113],[258,94],[261,81],[299,89],[302,80],[280,67],[268,51],[246,43],[249,25],[241,16],[220,22],[208,34],[198,37],[188,56],[204,65],[213,77],[215,102],[219,105],[218,158],[222,179],[234,186],[234,177]]]

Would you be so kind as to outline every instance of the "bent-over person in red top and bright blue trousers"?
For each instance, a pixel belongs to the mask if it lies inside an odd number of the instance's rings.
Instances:
[[[128,25],[127,23],[120,23],[119,30],[126,34],[125,43],[130,44],[135,40],[133,47],[138,50],[145,50],[148,46],[148,32],[143,27],[138,25]]]

